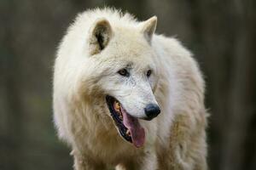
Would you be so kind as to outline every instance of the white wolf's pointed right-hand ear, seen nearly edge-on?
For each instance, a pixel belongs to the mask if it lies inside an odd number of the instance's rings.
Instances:
[[[155,28],[156,28],[156,24],[157,24],[157,17],[153,16],[148,20],[145,20],[142,23],[142,32],[144,34],[144,37],[147,39],[147,41],[150,43],[152,36],[154,34]]]

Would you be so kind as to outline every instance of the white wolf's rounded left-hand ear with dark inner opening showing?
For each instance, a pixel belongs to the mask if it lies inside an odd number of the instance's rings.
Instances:
[[[108,20],[102,18],[94,22],[89,32],[89,50],[90,54],[99,54],[112,37],[112,29]]]

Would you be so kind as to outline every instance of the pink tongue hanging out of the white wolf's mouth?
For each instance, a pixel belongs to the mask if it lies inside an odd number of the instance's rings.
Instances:
[[[123,108],[121,107],[121,111],[124,118],[124,125],[131,132],[132,143],[138,148],[143,146],[145,141],[145,131],[144,128],[141,127],[137,118],[130,116]]]

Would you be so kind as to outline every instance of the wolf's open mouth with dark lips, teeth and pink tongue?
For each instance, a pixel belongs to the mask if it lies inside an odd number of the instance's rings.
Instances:
[[[113,122],[123,139],[134,144],[136,147],[143,146],[145,131],[138,122],[138,119],[129,115],[120,102],[112,96],[107,95],[106,100]]]

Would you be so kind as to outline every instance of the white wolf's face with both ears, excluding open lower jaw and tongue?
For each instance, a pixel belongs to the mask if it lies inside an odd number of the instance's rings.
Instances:
[[[151,40],[156,17],[134,27],[111,26],[98,19],[90,27],[88,51],[101,70],[98,86],[131,116],[152,119],[160,112],[154,89],[158,81]]]

